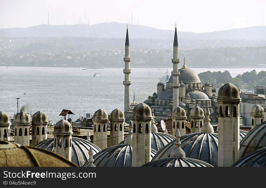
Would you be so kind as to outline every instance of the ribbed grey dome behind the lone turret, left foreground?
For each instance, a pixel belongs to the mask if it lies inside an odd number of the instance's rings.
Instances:
[[[37,143],[34,147],[42,148],[44,150],[54,151],[54,139],[49,138]],[[71,139],[71,161],[78,166],[83,166],[89,158],[89,149],[92,148],[93,155],[99,153],[101,149],[95,144],[84,140],[82,138],[72,137]]]

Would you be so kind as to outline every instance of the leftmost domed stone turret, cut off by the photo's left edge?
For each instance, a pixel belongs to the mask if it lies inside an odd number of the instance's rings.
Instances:
[[[0,112],[0,140],[10,141],[10,116]]]

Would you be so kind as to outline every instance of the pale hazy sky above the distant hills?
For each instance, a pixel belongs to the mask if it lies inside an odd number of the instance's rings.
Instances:
[[[117,21],[179,31],[208,32],[266,25],[266,0],[0,0],[0,28]],[[138,19],[139,18],[139,19]],[[130,21],[129,21],[130,20]]]

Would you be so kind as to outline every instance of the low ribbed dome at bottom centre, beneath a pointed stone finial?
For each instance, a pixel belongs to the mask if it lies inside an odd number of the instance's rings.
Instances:
[[[164,158],[152,160],[141,167],[213,167],[209,163],[192,158],[173,159]]]

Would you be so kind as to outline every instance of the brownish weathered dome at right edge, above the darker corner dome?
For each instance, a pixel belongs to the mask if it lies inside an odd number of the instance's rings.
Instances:
[[[252,129],[240,142],[239,157],[266,147],[266,121]]]

